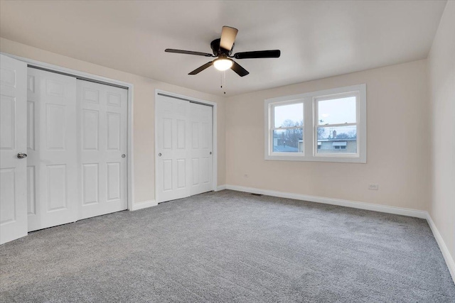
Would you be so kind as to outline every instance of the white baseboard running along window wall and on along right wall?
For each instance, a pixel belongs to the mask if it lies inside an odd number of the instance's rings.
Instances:
[[[455,282],[455,261],[452,258],[451,254],[449,253],[449,249],[444,242],[444,239],[441,237],[436,225],[434,225],[432,217],[429,215],[428,211],[419,211],[416,209],[405,209],[401,207],[395,206],[385,206],[379,204],[371,204],[365,202],[354,202],[349,200],[343,199],[333,199],[333,198],[326,198],[326,197],[317,197],[317,196],[309,196],[306,194],[292,194],[289,192],[277,192],[274,190],[267,190],[267,189],[258,189],[253,187],[243,187],[238,185],[220,185],[218,186],[218,190],[223,189],[231,189],[237,192],[250,192],[252,194],[265,194],[267,196],[272,197],[280,197],[280,198],[287,198],[287,199],[296,199],[296,200],[303,200],[309,202],[316,202],[316,203],[323,203],[323,204],[331,204],[331,205],[338,205],[338,206],[346,206],[352,207],[355,209],[366,209],[370,211],[380,211],[387,214],[399,214],[402,216],[412,216],[415,218],[420,219],[427,219],[428,225],[431,228],[434,238],[436,239],[439,249],[441,250],[442,255],[444,256],[444,260],[446,260],[446,265],[449,268],[450,275],[452,280]]]

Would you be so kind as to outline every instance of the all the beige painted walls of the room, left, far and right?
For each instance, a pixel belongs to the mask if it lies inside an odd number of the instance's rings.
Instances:
[[[0,38],[0,51],[134,84],[134,196],[154,199],[154,89],[218,104],[218,184],[428,210],[455,256],[455,2],[428,60],[217,97]],[[366,164],[264,160],[264,99],[367,84]],[[428,101],[429,99],[429,101]],[[244,177],[244,175],[249,177]],[[368,190],[378,183],[379,190]]]

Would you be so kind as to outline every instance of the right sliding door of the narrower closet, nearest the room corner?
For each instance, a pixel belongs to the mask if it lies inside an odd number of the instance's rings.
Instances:
[[[213,190],[212,106],[190,104],[191,195]]]

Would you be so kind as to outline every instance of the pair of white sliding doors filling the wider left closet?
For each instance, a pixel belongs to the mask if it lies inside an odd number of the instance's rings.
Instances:
[[[33,68],[27,90],[28,231],[127,209],[127,90]]]

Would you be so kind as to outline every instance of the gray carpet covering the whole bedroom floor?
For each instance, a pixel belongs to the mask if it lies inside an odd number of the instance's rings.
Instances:
[[[1,302],[455,302],[427,221],[200,194],[0,246]]]

